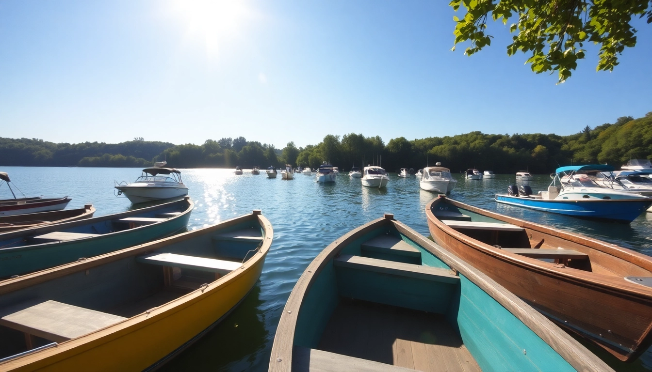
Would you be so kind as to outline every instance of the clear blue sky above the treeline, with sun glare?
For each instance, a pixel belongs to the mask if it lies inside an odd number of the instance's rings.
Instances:
[[[282,148],[326,134],[408,139],[580,132],[652,111],[652,26],[614,72],[566,83],[492,46],[450,51],[448,1],[0,2],[0,137]],[[459,14],[458,14],[459,15]]]

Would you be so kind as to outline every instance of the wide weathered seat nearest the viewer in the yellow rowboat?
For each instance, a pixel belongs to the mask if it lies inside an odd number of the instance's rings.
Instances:
[[[0,324],[24,332],[27,347],[31,349],[32,336],[63,342],[125,319],[102,311],[48,300],[5,315],[0,318]]]

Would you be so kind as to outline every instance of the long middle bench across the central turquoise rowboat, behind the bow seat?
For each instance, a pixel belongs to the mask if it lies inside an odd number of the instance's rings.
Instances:
[[[458,283],[460,281],[459,276],[456,276],[451,270],[445,268],[372,259],[370,257],[340,255],[340,257],[333,259],[333,266],[381,272],[383,274],[405,276],[408,278],[441,281],[444,283]]]

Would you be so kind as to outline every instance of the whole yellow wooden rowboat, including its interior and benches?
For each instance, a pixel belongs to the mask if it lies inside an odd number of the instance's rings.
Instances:
[[[273,230],[259,211],[0,283],[0,370],[142,371],[254,287]]]

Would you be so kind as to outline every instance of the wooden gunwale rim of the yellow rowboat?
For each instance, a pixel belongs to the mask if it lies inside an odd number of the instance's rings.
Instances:
[[[244,261],[243,265],[239,270],[233,270],[230,273],[220,277],[219,279],[212,281],[211,283],[207,283],[207,285],[205,286],[202,285],[202,287],[195,289],[194,291],[183,294],[171,300],[170,302],[166,302],[166,304],[162,304],[160,306],[149,309],[147,311],[143,311],[142,313],[134,315],[133,317],[129,317],[127,319],[124,319],[123,321],[117,322],[115,324],[111,324],[110,326],[100,328],[98,330],[90,332],[89,334],[85,334],[83,336],[76,337],[68,341],[64,341],[63,343],[59,343],[57,347],[44,349],[42,351],[34,352],[32,354],[27,354],[20,358],[8,360],[5,363],[0,363],[0,369],[2,370],[20,369],[29,364],[34,364],[39,362],[42,362],[44,364],[38,366],[38,368],[44,368],[47,367],[48,365],[52,365],[57,362],[60,362],[61,360],[71,358],[76,354],[80,354],[82,352],[93,349],[98,345],[108,343],[110,341],[118,339],[119,337],[125,336],[126,334],[130,334],[132,332],[135,332],[136,330],[145,328],[150,324],[161,321],[162,319],[169,317],[179,311],[182,311],[183,309],[193,306],[197,302],[200,302],[203,298],[212,296],[213,294],[216,294],[220,290],[226,288],[228,285],[231,285],[239,278],[243,278],[245,274],[247,274],[251,270],[256,269],[259,265],[263,265],[265,263],[265,257],[269,252],[269,248],[273,240],[273,228],[269,220],[267,220],[267,218],[265,218],[262,214],[260,214],[259,211],[254,211],[252,213],[245,214],[244,216],[239,216],[239,217],[231,218],[230,220],[218,222],[215,225],[208,226],[203,229],[187,231],[186,233],[169,236],[167,238],[155,240],[154,242],[148,242],[145,244],[140,244],[139,246],[125,248],[123,250],[92,257],[85,261],[68,263],[65,265],[56,266],[55,268],[42,270],[40,272],[35,272],[33,274],[27,274],[25,276],[8,279],[0,282],[0,294],[4,294],[25,287],[29,287],[31,285],[36,285],[38,283],[43,283],[50,279],[61,278],[69,274],[74,274],[76,272],[89,270],[90,268],[94,268],[96,266],[101,266],[114,261],[119,261],[120,259],[125,259],[126,257],[131,257],[148,251],[157,250],[170,243],[177,242],[177,240],[185,240],[189,235],[197,234],[198,231],[200,230],[203,231],[202,232],[203,234],[210,234],[215,231],[220,231],[222,229],[226,229],[233,225],[238,225],[240,223],[246,222],[247,220],[254,220],[254,219],[258,221],[260,227],[264,231],[263,242],[260,245],[258,252],[254,254],[247,261]],[[249,292],[247,292],[247,294],[248,293]],[[246,294],[244,296],[246,296]],[[210,326],[214,326],[215,324],[213,323],[211,323]],[[70,352],[72,352],[72,354],[69,354]],[[165,356],[163,358],[165,358]],[[156,364],[159,361],[160,360],[157,360],[154,363]]]

